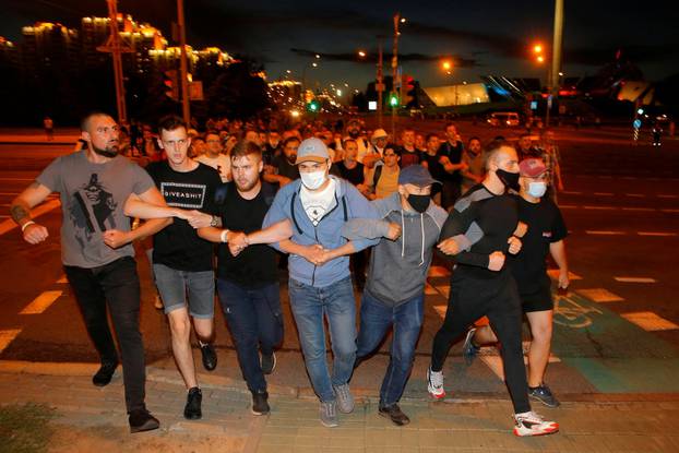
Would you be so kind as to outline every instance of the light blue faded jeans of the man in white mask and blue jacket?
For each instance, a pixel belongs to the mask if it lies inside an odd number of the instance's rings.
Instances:
[[[290,307],[299,331],[305,365],[313,391],[322,402],[335,401],[333,385],[346,384],[356,359],[356,300],[352,277],[318,288],[289,279]],[[333,350],[332,379],[325,360],[327,317]]]

